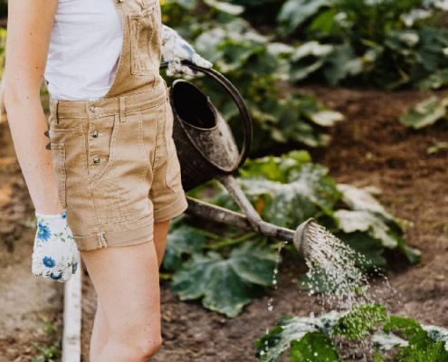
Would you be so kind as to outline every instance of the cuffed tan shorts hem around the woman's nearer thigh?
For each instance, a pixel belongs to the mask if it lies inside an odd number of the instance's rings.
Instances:
[[[83,252],[106,247],[137,245],[151,242],[154,238],[153,222],[132,230],[118,232],[100,232],[90,236],[73,236],[78,249]]]

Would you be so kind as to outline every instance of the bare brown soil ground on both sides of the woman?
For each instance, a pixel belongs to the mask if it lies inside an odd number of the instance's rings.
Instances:
[[[391,212],[414,223],[407,228],[407,241],[423,252],[423,263],[408,266],[390,257],[391,284],[400,300],[391,296],[392,311],[404,313],[425,324],[448,327],[448,175],[447,151],[428,155],[436,141],[448,138],[448,127],[436,124],[418,131],[405,129],[398,117],[406,107],[424,100],[427,92],[386,93],[376,90],[346,90],[313,87],[305,90],[329,108],[343,112],[347,121],[332,130],[330,148],[312,150],[316,162],[329,167],[339,183],[377,186]],[[4,336],[0,361],[21,361],[37,357],[35,342],[49,348],[48,331],[42,317],[61,330],[62,286],[35,279],[29,271],[33,230],[20,225],[6,230],[5,220],[29,220],[33,209],[14,159],[6,124],[2,135],[0,164],[1,239],[0,268],[2,290],[0,322]],[[1,232],[1,230],[0,230]],[[255,300],[235,319],[204,310],[199,303],[185,303],[162,282],[163,333],[165,344],[157,361],[250,361],[254,360],[253,341],[271,329],[282,314],[306,316],[319,312],[319,306],[305,292],[297,290],[297,279],[304,268],[286,258],[281,266],[279,286],[269,297]],[[83,361],[88,361],[88,338],[95,309],[95,293],[88,278],[83,285]],[[20,285],[20,288],[14,287]],[[273,298],[273,310],[268,300]],[[14,321],[14,323],[13,323]],[[346,351],[348,357],[349,351]],[[2,359],[4,358],[4,359]],[[362,360],[361,355],[348,360]]]

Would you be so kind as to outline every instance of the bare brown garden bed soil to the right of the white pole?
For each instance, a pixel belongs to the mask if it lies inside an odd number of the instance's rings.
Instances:
[[[406,240],[423,252],[423,262],[410,267],[399,258],[389,258],[388,277],[399,291],[387,302],[391,311],[406,314],[425,324],[448,327],[448,162],[447,151],[428,155],[436,141],[448,138],[443,124],[419,131],[398,122],[403,111],[428,96],[427,92],[346,90],[313,87],[305,90],[329,108],[347,117],[333,129],[329,148],[311,151],[314,161],[329,167],[339,183],[377,186],[380,197],[396,216],[414,223]],[[256,136],[255,136],[256,137]],[[255,300],[235,319],[204,310],[200,303],[181,302],[162,282],[164,347],[157,361],[250,361],[253,341],[271,329],[283,314],[306,316],[319,306],[297,290],[299,271],[287,258],[281,266],[277,290]],[[87,361],[88,338],[95,309],[95,293],[84,279],[83,360]],[[387,296],[386,296],[387,297]],[[273,310],[268,300],[273,299]],[[363,360],[362,355],[347,360]],[[366,360],[364,358],[364,360]]]

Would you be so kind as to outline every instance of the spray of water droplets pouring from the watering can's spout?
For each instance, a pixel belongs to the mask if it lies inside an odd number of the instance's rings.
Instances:
[[[398,292],[391,287],[386,276],[373,266],[364,255],[342,243],[335,235],[329,233],[323,226],[313,224],[306,238],[305,262],[309,267],[305,286],[313,305],[321,307],[320,312],[329,310],[345,311],[365,305],[380,303],[389,309],[389,300],[401,300]],[[281,251],[287,243],[281,243],[278,249],[278,263],[273,271],[272,286],[278,289],[278,268],[281,261]],[[360,266],[364,265],[364,267]],[[367,269],[376,274],[376,283],[371,285]],[[267,309],[274,309],[273,299],[268,300]],[[318,310],[315,310],[318,312]],[[314,317],[311,313],[310,317]],[[375,350],[371,338],[361,341],[348,341],[335,338],[337,345],[348,351],[348,360],[352,358],[362,361],[373,360]]]

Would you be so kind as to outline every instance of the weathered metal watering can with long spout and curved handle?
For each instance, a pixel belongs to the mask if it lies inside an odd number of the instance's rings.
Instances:
[[[239,214],[187,197],[186,213],[294,243],[296,249],[302,255],[306,255],[310,238],[319,225],[310,219],[292,231],[263,221],[232,176],[232,173],[243,165],[248,156],[253,138],[252,119],[241,94],[218,71],[201,68],[191,62],[183,62],[183,64],[217,81],[232,97],[243,119],[243,144],[240,152],[232,129],[202,90],[185,80],[176,80],[169,88],[170,103],[175,119],[173,138],[184,189],[189,191],[215,178],[232,195],[243,211],[243,214]],[[167,68],[167,62],[162,63],[160,68]]]

